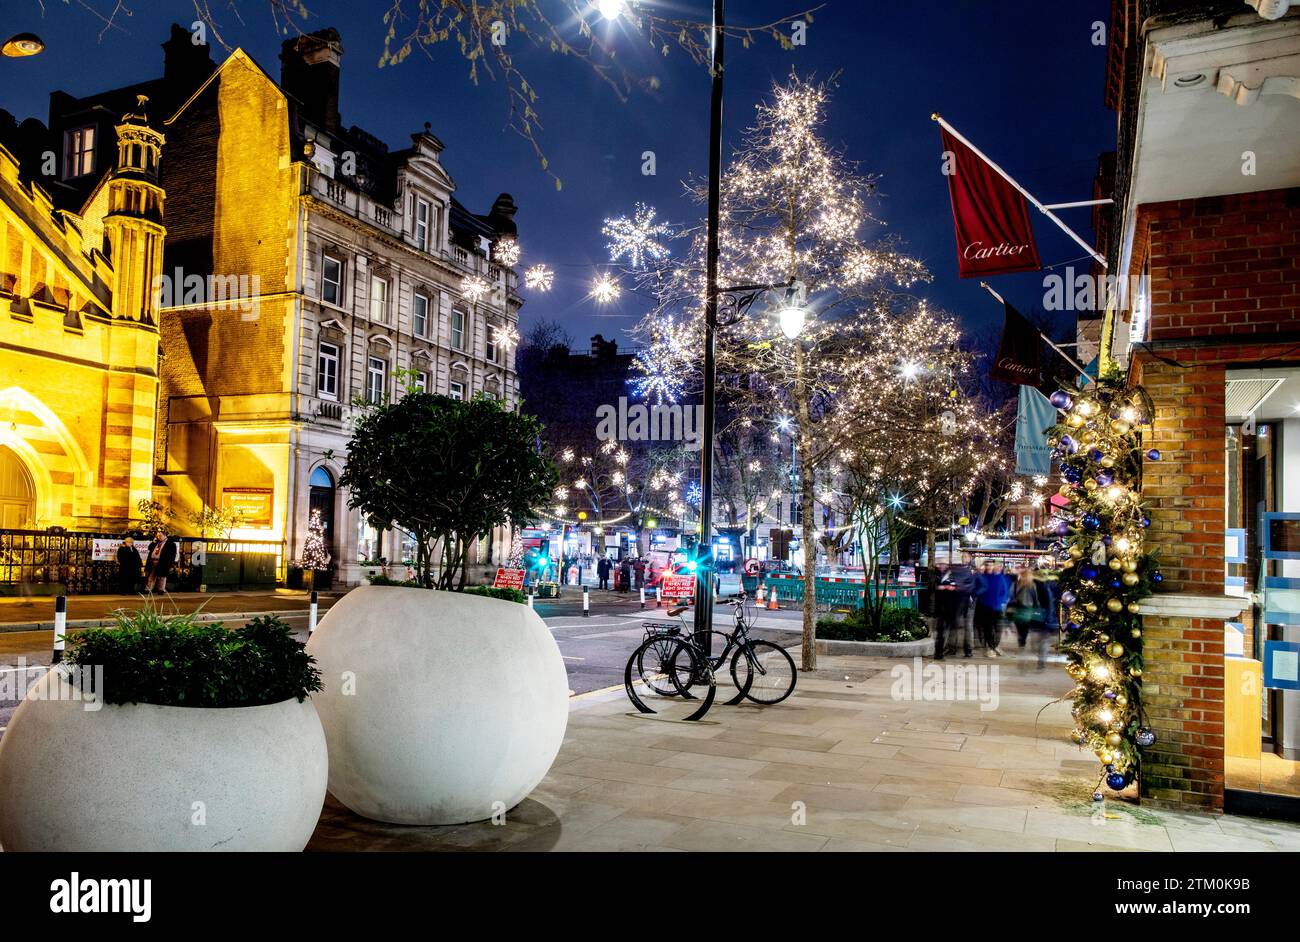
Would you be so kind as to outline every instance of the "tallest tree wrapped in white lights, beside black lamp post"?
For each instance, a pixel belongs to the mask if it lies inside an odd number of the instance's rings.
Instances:
[[[720,398],[742,403],[737,414],[788,416],[796,437],[798,494],[811,511],[819,469],[858,434],[837,417],[837,398],[853,370],[849,359],[870,318],[887,316],[898,292],[927,278],[924,266],[894,240],[868,239],[883,223],[868,210],[875,179],[862,177],[823,136],[824,83],[792,75],[758,107],[755,123],[723,173],[720,285],[803,282],[814,317],[796,340],[771,316],[754,312],[720,331]],[[707,188],[690,186],[703,203]],[[697,390],[703,350],[705,233],[690,251],[641,275],[658,304],[640,330],[642,388],[675,400]],[[815,521],[803,515],[803,669],[816,667],[814,598]]]

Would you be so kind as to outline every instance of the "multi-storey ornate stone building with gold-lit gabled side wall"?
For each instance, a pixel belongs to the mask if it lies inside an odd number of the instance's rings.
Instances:
[[[463,207],[429,125],[402,149],[344,126],[335,30],[286,40],[278,82],[242,49],[216,65],[178,26],[164,51],[162,78],[51,101],[65,160],[90,142],[86,160],[104,165],[94,142],[107,131],[75,129],[138,92],[165,104],[176,225],[157,282],[153,494],[182,528],[238,511],[231,535],[282,542],[282,563],[320,511],[335,578],[356,583],[363,561],[413,557],[337,487],[356,403],[408,388],[517,401],[521,300],[497,261],[515,204]],[[502,547],[504,533],[471,559]]]

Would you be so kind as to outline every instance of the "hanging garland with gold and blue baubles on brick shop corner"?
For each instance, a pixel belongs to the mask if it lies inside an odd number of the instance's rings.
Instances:
[[[1063,416],[1048,431],[1061,465],[1069,515],[1053,544],[1061,564],[1061,650],[1075,682],[1070,738],[1101,761],[1101,783],[1122,791],[1136,778],[1141,750],[1156,742],[1141,707],[1141,604],[1161,581],[1143,551],[1147,516],[1141,486],[1141,426],[1154,417],[1150,398],[1130,388],[1118,369],[1084,388],[1058,391]],[[1145,452],[1160,460],[1154,448]]]

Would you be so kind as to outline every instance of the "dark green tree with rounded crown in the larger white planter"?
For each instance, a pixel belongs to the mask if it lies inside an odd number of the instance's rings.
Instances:
[[[339,485],[350,507],[415,538],[417,582],[463,590],[473,539],[528,522],[555,487],[540,434],[536,418],[495,399],[408,392],[358,421]]]

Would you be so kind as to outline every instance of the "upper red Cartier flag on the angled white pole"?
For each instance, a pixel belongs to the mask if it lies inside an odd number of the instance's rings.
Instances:
[[[957,268],[962,278],[1037,272],[1028,204],[987,161],[940,127],[944,149],[953,155],[948,194],[957,226]]]

